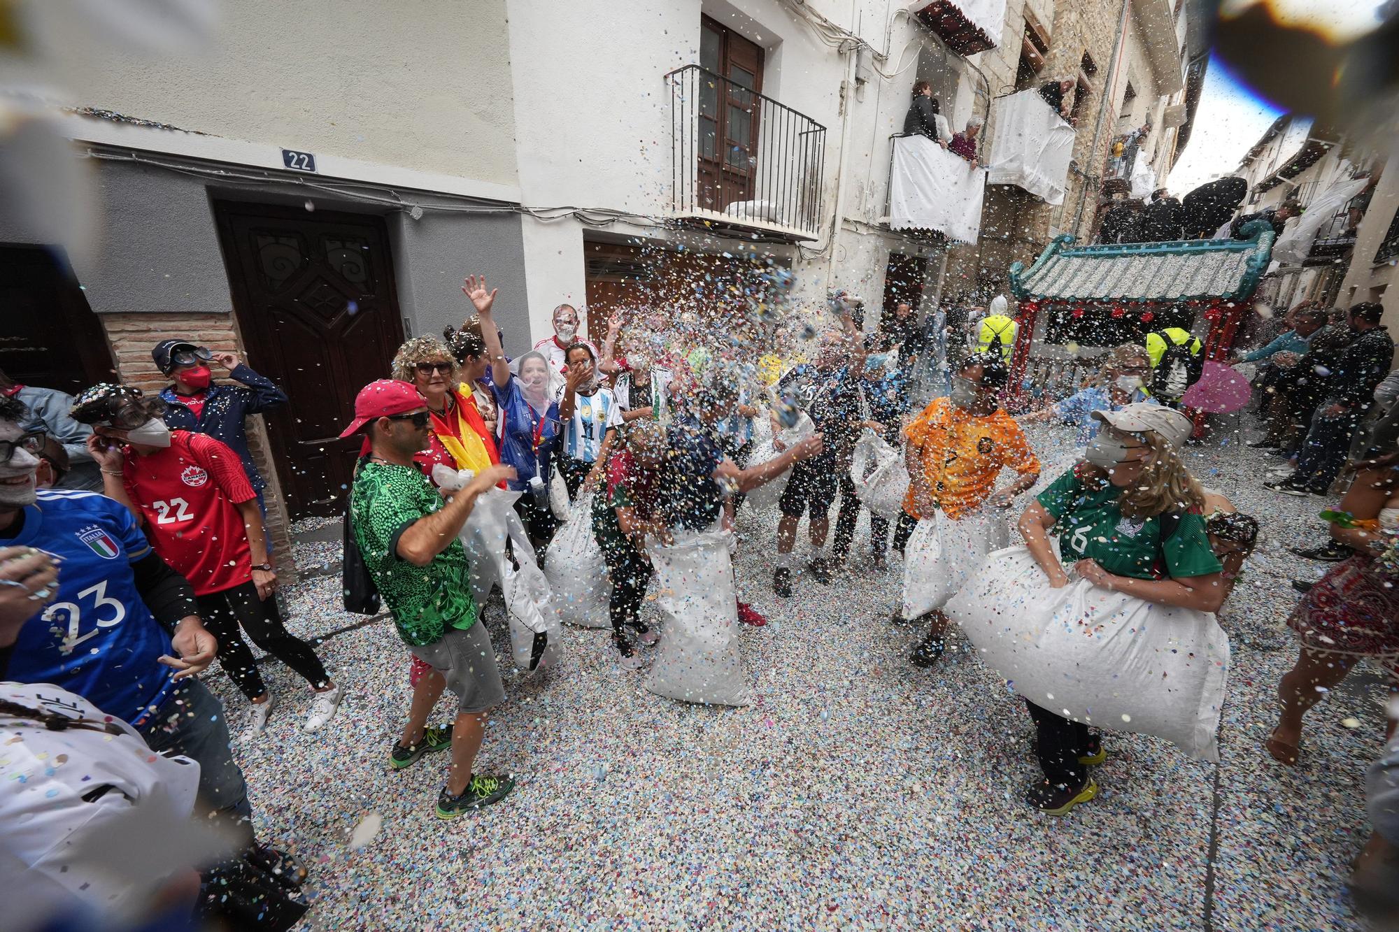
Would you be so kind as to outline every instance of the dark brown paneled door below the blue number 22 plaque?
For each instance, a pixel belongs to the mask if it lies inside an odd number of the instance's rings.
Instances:
[[[337,439],[354,396],[388,378],[403,341],[381,217],[218,203],[248,362],[290,402],[267,416],[292,518],[336,514],[360,439]]]

